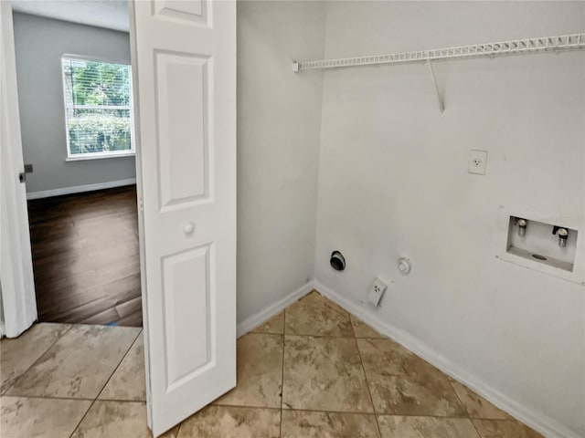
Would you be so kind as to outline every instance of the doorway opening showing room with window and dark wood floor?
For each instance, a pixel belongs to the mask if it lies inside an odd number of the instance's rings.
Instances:
[[[127,5],[102,6],[14,2],[37,314],[142,327]]]

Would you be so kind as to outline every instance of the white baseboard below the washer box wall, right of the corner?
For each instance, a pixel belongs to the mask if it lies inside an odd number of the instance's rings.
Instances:
[[[461,381],[465,386],[471,388],[486,400],[491,401],[498,408],[508,412],[514,418],[520,422],[524,422],[527,426],[542,433],[547,438],[580,438],[580,435],[570,430],[564,424],[541,412],[534,412],[517,401],[510,399],[502,392],[492,388],[488,383],[478,379],[469,371],[463,370],[459,365],[453,363],[452,360],[443,357],[441,353],[432,349],[420,339],[415,338],[400,328],[392,327],[369,313],[365,308],[349,301],[330,288],[325,287],[318,280],[314,280],[314,288],[320,294],[324,295],[324,297],[331,299],[352,315],[378,330],[382,335],[388,336],[388,338],[397,341],[404,348],[410,349],[410,351],[420,358],[428,361],[456,381]]]

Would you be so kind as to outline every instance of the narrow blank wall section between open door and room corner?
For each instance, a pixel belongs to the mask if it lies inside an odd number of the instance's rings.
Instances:
[[[238,3],[238,321],[314,277],[321,2]]]

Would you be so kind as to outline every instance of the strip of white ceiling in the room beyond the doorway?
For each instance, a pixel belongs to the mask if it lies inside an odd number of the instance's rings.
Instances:
[[[128,32],[126,0],[13,0],[16,12]]]

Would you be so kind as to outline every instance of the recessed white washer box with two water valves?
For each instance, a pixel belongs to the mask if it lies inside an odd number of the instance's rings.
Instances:
[[[584,218],[500,207],[496,257],[573,283],[585,284]],[[524,222],[526,221],[526,222]],[[526,224],[524,230],[523,225]],[[564,242],[559,244],[559,230]]]

